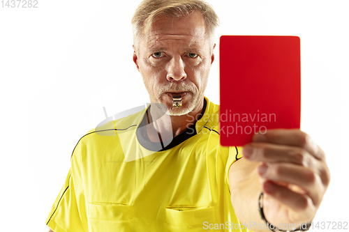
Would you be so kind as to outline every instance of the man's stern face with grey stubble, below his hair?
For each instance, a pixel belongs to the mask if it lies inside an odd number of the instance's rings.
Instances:
[[[205,19],[197,11],[184,18],[156,18],[133,55],[151,102],[161,103],[170,115],[200,109],[214,61],[212,50]],[[181,95],[182,107],[172,107],[173,95]]]

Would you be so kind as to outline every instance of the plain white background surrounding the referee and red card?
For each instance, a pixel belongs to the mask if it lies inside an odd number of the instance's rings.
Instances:
[[[71,152],[104,119],[103,106],[112,115],[149,101],[132,62],[139,2],[0,8],[0,231],[47,231]],[[348,1],[209,2],[221,18],[216,42],[223,34],[301,38],[302,130],[325,150],[332,172],[315,221],[349,222]],[[206,95],[219,102],[218,59]]]

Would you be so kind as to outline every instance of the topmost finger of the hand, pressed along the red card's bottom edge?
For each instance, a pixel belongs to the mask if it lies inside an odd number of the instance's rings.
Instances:
[[[318,160],[325,160],[325,153],[316,145],[311,137],[301,130],[267,130],[265,134],[255,134],[253,142],[282,144],[285,146],[297,146],[304,148]]]

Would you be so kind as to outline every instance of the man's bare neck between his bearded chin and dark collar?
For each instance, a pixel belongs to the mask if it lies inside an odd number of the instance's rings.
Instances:
[[[181,116],[169,116],[163,114],[163,111],[156,106],[150,107],[150,114],[148,114],[150,123],[147,125],[149,139],[157,141],[160,137],[162,141],[167,141],[181,134],[181,132],[184,132],[197,121],[203,106],[204,99],[200,101],[200,104],[193,111]]]

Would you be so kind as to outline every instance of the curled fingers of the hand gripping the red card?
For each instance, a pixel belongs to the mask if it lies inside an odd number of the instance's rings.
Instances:
[[[262,186],[272,183],[269,187],[274,186],[279,193],[269,194],[279,201],[290,196],[287,201],[310,199],[314,206],[320,206],[329,185],[329,169],[325,153],[308,134],[300,130],[268,130],[255,134],[253,143],[244,146],[242,153],[248,160],[262,162],[258,168]],[[288,195],[282,196],[285,191]],[[297,197],[292,199],[295,194]]]

